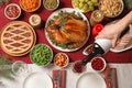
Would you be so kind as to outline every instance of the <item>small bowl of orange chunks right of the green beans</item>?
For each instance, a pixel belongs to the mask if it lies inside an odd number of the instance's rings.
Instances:
[[[54,65],[56,67],[63,68],[68,66],[68,64],[69,64],[69,58],[67,54],[61,52],[55,55]]]

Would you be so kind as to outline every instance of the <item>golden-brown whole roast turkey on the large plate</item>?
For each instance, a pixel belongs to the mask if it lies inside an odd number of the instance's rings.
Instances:
[[[65,14],[54,20],[47,28],[53,40],[57,43],[81,45],[87,38],[87,22],[73,14]]]

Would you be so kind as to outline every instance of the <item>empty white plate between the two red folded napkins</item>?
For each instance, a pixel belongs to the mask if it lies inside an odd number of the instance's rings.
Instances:
[[[105,79],[97,73],[86,73],[77,80],[76,88],[107,88]]]

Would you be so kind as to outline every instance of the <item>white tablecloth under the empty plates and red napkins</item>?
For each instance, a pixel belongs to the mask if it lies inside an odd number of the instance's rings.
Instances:
[[[75,74],[72,70],[72,63],[66,69],[66,88],[76,88],[76,82],[78,78],[84,74]],[[132,88],[132,64],[109,64],[110,67],[117,68],[117,75],[118,75],[118,88]],[[32,68],[32,72],[43,72],[47,74],[50,77],[52,77],[52,70],[58,69],[53,64],[48,65],[47,67],[38,67],[34,64],[29,64],[29,67]],[[91,73],[94,72],[90,69],[90,64],[87,64],[87,72],[85,73]],[[101,76],[101,73],[98,73]],[[29,73],[30,75],[30,73]],[[0,86],[0,88],[23,88],[23,81],[26,78],[26,75],[16,76],[14,80],[9,80],[6,78],[1,78],[2,82],[6,86]],[[103,76],[102,76],[103,77]]]

